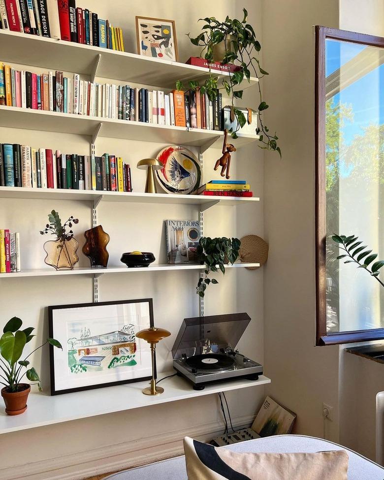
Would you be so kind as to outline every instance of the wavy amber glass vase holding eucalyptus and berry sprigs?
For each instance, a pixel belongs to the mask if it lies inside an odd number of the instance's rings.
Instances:
[[[79,219],[70,216],[68,220],[62,225],[59,213],[52,210],[48,214],[49,224],[45,225],[43,230],[40,230],[41,235],[50,233],[55,235],[55,240],[48,240],[44,243],[44,250],[46,257],[44,259],[47,265],[51,265],[56,270],[73,270],[76,263],[79,261],[77,256],[77,249],[79,244],[73,238],[72,225],[78,224]],[[67,229],[70,228],[69,231]]]

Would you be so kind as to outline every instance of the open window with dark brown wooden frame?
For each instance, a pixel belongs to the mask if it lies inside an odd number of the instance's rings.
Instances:
[[[331,238],[384,257],[384,38],[316,27],[316,141],[317,345],[384,338],[383,286]]]

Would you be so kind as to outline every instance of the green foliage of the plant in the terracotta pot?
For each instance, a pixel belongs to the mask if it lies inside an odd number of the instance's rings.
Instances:
[[[34,337],[34,335],[32,335],[34,328],[27,327],[21,330],[22,325],[22,320],[13,317],[5,324],[3,334],[0,338],[0,384],[5,385],[11,393],[24,389],[21,383],[24,375],[31,382],[38,382],[38,388],[41,390],[39,384],[40,378],[36,370],[30,366],[28,358],[33,352],[41,349],[47,343],[62,349],[60,342],[54,338],[47,338],[43,345],[40,345],[40,347],[34,349],[23,360],[20,360],[24,347]]]

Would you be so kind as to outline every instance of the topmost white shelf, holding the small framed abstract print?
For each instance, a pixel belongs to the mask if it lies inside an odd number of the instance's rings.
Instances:
[[[204,81],[208,76],[207,68],[8,30],[0,31],[0,51],[2,62],[84,75],[93,74],[100,55],[97,76],[164,89],[174,89],[176,80]],[[216,70],[213,73],[221,78],[228,76]],[[257,78],[251,77],[249,83],[244,82],[244,86],[255,85],[256,82]]]

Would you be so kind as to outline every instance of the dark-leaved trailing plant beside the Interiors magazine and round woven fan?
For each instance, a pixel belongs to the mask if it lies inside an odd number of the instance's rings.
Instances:
[[[238,238],[210,238],[201,237],[196,249],[197,260],[201,265],[205,263],[204,276],[200,277],[196,293],[204,298],[205,290],[210,283],[217,285],[219,282],[209,278],[210,272],[217,272],[218,267],[225,274],[225,264],[233,263],[239,258],[240,240]]]

